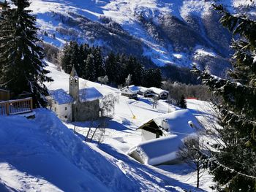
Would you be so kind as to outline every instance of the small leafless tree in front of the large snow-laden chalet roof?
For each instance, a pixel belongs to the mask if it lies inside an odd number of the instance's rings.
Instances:
[[[201,152],[198,139],[195,137],[185,139],[177,156],[197,172],[197,188],[199,188],[200,177],[206,168],[208,158]]]

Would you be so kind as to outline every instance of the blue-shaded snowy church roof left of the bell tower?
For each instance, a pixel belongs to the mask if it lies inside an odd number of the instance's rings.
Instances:
[[[53,97],[53,100],[56,101],[58,104],[69,104],[69,103],[72,103],[73,101],[72,96],[70,96],[62,88],[54,91],[49,91],[49,93],[50,93],[50,96]]]

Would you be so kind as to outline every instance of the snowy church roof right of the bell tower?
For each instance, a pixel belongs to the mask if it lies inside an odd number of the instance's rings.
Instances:
[[[81,102],[94,101],[97,99],[102,99],[102,93],[99,93],[96,88],[83,88],[79,90],[79,99]]]

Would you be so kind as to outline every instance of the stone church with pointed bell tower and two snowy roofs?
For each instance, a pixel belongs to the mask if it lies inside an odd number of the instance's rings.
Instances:
[[[61,120],[85,121],[99,118],[99,99],[102,94],[96,88],[79,88],[78,73],[73,66],[69,76],[69,93],[63,89],[50,91],[50,110]]]

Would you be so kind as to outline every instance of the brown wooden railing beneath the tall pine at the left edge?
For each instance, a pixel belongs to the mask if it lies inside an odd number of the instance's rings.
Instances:
[[[31,112],[32,110],[33,100],[31,97],[0,102],[0,115],[17,115]]]

